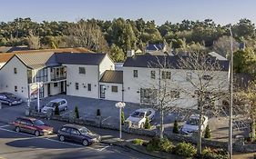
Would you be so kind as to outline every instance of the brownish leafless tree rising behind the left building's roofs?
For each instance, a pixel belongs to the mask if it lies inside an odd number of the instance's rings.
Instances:
[[[83,19],[67,28],[66,43],[69,47],[86,47],[93,51],[106,52],[108,44],[96,22]]]

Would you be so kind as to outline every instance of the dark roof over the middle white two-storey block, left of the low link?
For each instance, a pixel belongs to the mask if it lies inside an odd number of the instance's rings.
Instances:
[[[56,63],[67,65],[99,65],[106,54],[56,53]]]

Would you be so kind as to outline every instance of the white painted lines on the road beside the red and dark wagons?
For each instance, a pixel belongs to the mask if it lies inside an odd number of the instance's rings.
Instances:
[[[48,140],[48,141],[51,141],[51,142],[56,142],[56,143],[59,143],[59,144],[68,144],[68,145],[77,146],[77,147],[84,147],[84,148],[91,149],[91,150],[96,150],[96,151],[100,151],[101,150],[101,149],[97,149],[97,148],[93,148],[93,147],[89,147],[89,146],[86,147],[86,146],[81,145],[81,144],[72,144],[72,143],[61,142],[61,141],[58,141],[58,140],[54,140],[54,139],[48,138],[48,137],[55,137],[56,134],[46,135],[46,136],[35,136],[33,134],[18,133],[18,132],[15,132],[13,130],[8,130],[8,129],[4,129],[4,128],[1,128],[1,127],[0,127],[0,130],[6,131],[6,132],[11,132],[11,133],[14,133],[14,134],[24,134],[26,136],[32,137],[32,138],[22,138],[22,139],[15,139],[15,140],[41,138],[41,139],[45,139],[45,140]]]

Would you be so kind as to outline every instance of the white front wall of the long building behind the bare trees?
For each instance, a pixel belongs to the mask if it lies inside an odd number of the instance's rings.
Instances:
[[[133,70],[138,70],[138,77],[133,77]],[[152,79],[150,77],[151,71],[154,70],[156,72],[156,78]],[[191,70],[181,70],[181,69],[157,69],[157,68],[143,68],[143,67],[124,67],[123,68],[123,77],[124,77],[124,102],[130,103],[140,103],[140,88],[151,88],[151,89],[159,89],[159,85],[161,87],[167,87],[168,89],[179,90],[179,98],[173,100],[171,104],[178,105],[180,107],[193,107],[197,108],[196,105],[198,103],[197,95],[195,94],[195,90],[197,90],[196,86],[199,81],[195,81],[198,79],[197,75],[199,74],[208,74],[199,73],[198,71]],[[161,71],[170,71],[171,78],[168,80],[159,80],[159,75],[161,75]],[[189,81],[187,81],[187,73],[191,73],[191,78],[193,83],[192,85]],[[212,73],[212,72],[211,72]],[[220,91],[228,91],[229,88],[229,77],[228,72],[214,72],[212,73],[215,76],[215,79],[211,80],[211,84],[208,87],[209,91],[220,87]],[[221,83],[221,84],[220,84]],[[166,85],[164,85],[166,84]],[[185,90],[185,91],[181,91]],[[220,101],[217,101],[216,104],[220,104]]]

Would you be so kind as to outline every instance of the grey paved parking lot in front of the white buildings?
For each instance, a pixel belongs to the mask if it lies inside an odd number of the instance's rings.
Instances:
[[[49,96],[45,99],[40,100],[41,108],[46,105],[49,101],[56,98],[65,98],[68,104],[68,110],[62,112],[62,115],[70,115],[74,114],[75,106],[78,107],[79,114],[81,117],[94,117],[97,114],[97,109],[100,109],[102,115],[102,121],[104,124],[118,124],[118,108],[115,106],[116,101],[106,101],[106,100],[98,100],[92,98],[85,97],[77,97],[77,96],[68,96],[65,94],[58,94],[55,96]],[[32,106],[36,106],[36,102],[31,104]],[[9,107],[4,105],[5,113],[0,111],[0,115],[2,116],[1,120],[7,120],[10,118],[9,115],[25,115],[25,106],[26,104],[15,105]],[[124,108],[124,114],[127,118],[129,114],[140,107],[145,107],[145,105],[140,104],[126,104]],[[165,131],[171,132],[174,120],[177,119],[179,114],[166,114],[164,118]],[[159,112],[156,112],[155,120],[151,123],[153,125],[159,124]],[[9,121],[10,122],[10,121]],[[184,123],[184,120],[179,121],[179,126]],[[227,140],[228,139],[228,118],[227,117],[210,117],[209,119],[210,130],[212,133],[212,138],[218,140]],[[242,134],[243,131],[234,131],[234,134]]]

